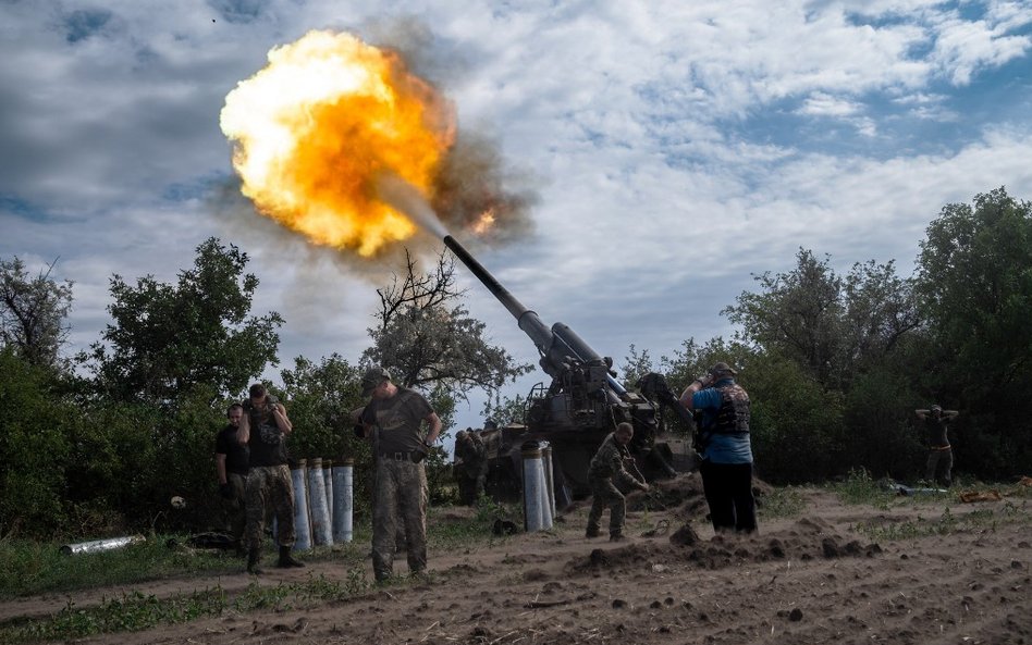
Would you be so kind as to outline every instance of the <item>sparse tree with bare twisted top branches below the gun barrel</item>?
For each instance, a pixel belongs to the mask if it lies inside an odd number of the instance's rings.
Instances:
[[[453,261],[442,253],[432,273],[419,273],[411,256],[406,258],[405,275],[377,289],[380,324],[369,330],[373,346],[363,353],[365,362],[389,368],[407,387],[430,390],[441,384],[457,398],[477,388],[490,396],[531,370],[490,345],[484,324],[452,305],[464,295],[455,289]]]

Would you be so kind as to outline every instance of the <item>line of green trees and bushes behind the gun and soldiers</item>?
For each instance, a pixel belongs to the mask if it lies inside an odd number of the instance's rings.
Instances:
[[[210,238],[174,283],[112,276],[111,323],[65,357],[72,283],[52,278],[52,266],[32,275],[16,257],[0,258],[0,535],[204,525],[225,407],[279,367],[285,321],[251,311],[259,282],[247,262]],[[839,275],[831,258],[802,248],[790,271],[753,277],[754,289],[722,312],[733,337],[689,338],[659,360],[631,346],[626,383],[659,371],[677,389],[717,360],[737,365],[753,401],[758,472],[775,483],[858,468],[914,479],[923,446],[912,413],[933,401],[961,411],[951,436],[959,471],[1000,480],[1032,462],[1029,202],[998,188],[947,204],[909,277],[873,260]],[[450,260],[425,272],[409,257],[378,294],[356,362],[297,357],[269,384],[298,430],[295,458],[347,456],[370,471],[349,411],[371,363],[423,390],[445,427],[474,390],[488,394],[484,415],[520,420],[526,400],[501,392],[532,368],[484,337]],[[445,476],[444,458],[433,456],[431,480]],[[359,512],[368,486],[356,477]],[[172,511],[172,495],[187,498],[185,511]]]

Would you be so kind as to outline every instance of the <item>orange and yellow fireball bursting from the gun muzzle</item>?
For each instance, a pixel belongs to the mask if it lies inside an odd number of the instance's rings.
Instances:
[[[241,190],[318,244],[369,257],[416,232],[380,199],[384,175],[429,198],[454,141],[451,106],[391,51],[309,32],[225,97]]]

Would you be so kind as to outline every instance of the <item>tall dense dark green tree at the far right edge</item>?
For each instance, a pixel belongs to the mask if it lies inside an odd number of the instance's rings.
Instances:
[[[958,448],[979,450],[958,459],[1017,473],[1032,461],[1032,204],[1003,187],[947,204],[920,247],[925,394],[967,412]]]

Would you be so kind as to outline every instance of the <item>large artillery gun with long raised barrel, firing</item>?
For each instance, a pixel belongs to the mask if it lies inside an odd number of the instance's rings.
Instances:
[[[552,377],[533,386],[523,424],[484,429],[490,470],[488,491],[506,497],[519,491],[520,450],[527,444],[548,443],[552,448],[556,501],[590,494],[588,466],[609,433],[622,422],[635,427],[629,449],[639,471],[649,481],[690,471],[696,464],[688,437],[665,433],[664,409],[688,427],[691,414],[681,407],[661,374],[650,373],[629,392],[613,371],[613,360],[594,351],[569,326],[546,326],[535,311],[523,306],[454,237],[444,244],[480,280],[516,319],[533,342],[540,365]]]

